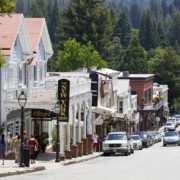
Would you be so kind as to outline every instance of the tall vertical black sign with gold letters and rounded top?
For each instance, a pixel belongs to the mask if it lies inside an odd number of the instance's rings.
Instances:
[[[69,80],[61,79],[58,81],[58,100],[60,102],[59,120],[62,122],[69,121],[69,90]]]

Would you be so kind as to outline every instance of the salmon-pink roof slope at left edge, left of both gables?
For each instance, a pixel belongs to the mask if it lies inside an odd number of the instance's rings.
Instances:
[[[10,55],[23,14],[0,16],[0,48],[4,55]]]

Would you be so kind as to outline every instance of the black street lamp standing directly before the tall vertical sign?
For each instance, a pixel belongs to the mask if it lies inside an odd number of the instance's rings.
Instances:
[[[54,106],[54,112],[56,113],[56,160],[55,162],[59,162],[59,111],[60,111],[60,103],[57,101],[57,103]]]

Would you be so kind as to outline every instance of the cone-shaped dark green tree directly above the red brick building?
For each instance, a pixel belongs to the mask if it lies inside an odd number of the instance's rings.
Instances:
[[[146,51],[140,46],[137,36],[132,38],[130,46],[122,52],[121,61],[118,66],[119,71],[129,71],[130,73],[147,73]]]

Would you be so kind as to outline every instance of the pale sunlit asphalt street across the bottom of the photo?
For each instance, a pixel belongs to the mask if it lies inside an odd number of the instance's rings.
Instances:
[[[179,180],[180,147],[162,142],[130,156],[99,157],[79,164],[59,166],[37,173],[4,177],[4,180]],[[56,166],[57,167],[57,166]]]

